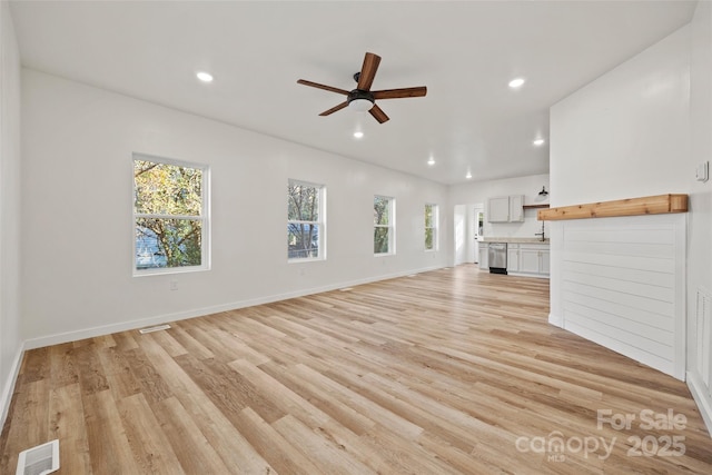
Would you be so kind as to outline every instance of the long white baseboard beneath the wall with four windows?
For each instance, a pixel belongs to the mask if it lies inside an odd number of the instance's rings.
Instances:
[[[343,281],[338,284],[332,284],[328,286],[296,290],[291,293],[268,295],[268,296],[250,298],[246,300],[231,301],[231,303],[210,306],[210,307],[192,308],[186,311],[178,311],[175,314],[165,314],[165,315],[158,315],[155,317],[121,321],[112,325],[102,325],[102,326],[85,328],[80,330],[72,330],[72,331],[65,331],[65,333],[55,334],[55,335],[41,336],[41,337],[26,340],[24,348],[34,349],[34,348],[41,348],[50,345],[59,345],[62,343],[76,342],[85,338],[93,338],[97,336],[109,335],[118,331],[132,330],[136,328],[144,328],[148,326],[166,324],[169,321],[185,320],[187,318],[195,318],[204,315],[218,314],[220,311],[235,310],[238,308],[253,307],[255,305],[270,304],[273,301],[286,300],[286,299],[296,298],[296,297],[304,297],[305,295],[313,295],[313,294],[320,294],[323,291],[337,290],[344,287],[354,287],[363,284],[370,284],[378,280],[387,280],[387,279],[393,279],[397,277],[405,277],[408,275],[426,273],[426,271],[436,270],[439,268],[442,267],[441,266],[426,267],[426,268],[416,269],[416,270],[407,270],[403,273],[368,277],[364,279],[348,280],[348,281]]]

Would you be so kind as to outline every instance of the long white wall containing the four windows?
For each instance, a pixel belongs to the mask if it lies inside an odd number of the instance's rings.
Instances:
[[[33,70],[22,70],[22,100],[28,347],[443,267],[452,255],[445,186]],[[132,152],[210,166],[211,270],[131,277]],[[289,178],[327,187],[326,261],[287,263]],[[396,198],[395,256],[373,255],[374,194]],[[441,205],[436,253],[424,251],[425,202]]]

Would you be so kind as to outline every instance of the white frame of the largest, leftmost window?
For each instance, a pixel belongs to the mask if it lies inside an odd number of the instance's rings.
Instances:
[[[136,162],[137,161],[150,161],[154,164],[169,165],[184,168],[192,168],[201,171],[200,182],[200,215],[198,216],[184,216],[184,215],[160,215],[160,214],[147,214],[137,212],[136,208]],[[132,236],[132,259],[131,259],[131,274],[134,277],[156,276],[156,275],[170,275],[170,274],[185,274],[210,270],[210,167],[207,164],[198,164],[194,161],[178,160],[167,157],[159,157],[155,155],[134,152],[131,155],[131,236]],[[180,267],[149,267],[145,269],[137,268],[137,236],[136,236],[136,222],[139,218],[158,218],[158,219],[190,219],[201,222],[200,226],[200,265],[199,266],[180,266]]]

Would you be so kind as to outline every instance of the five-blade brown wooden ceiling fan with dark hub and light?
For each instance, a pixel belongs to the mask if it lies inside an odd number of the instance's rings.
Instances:
[[[354,75],[354,80],[357,82],[356,89],[347,91],[345,89],[333,88],[330,86],[319,85],[317,82],[307,81],[306,79],[299,79],[297,82],[304,86],[310,86],[317,89],[324,89],[327,91],[336,92],[346,96],[346,100],[338,106],[325,110],[319,116],[329,116],[337,110],[342,110],[345,107],[349,107],[358,111],[368,111],[379,122],[383,123],[388,120],[388,116],[384,112],[376,100],[378,99],[398,99],[404,97],[423,97],[427,92],[425,86],[417,88],[400,88],[400,89],[387,89],[382,91],[372,91],[370,86],[376,77],[378,65],[380,63],[380,57],[373,52],[367,52],[364,57],[364,65],[360,67],[360,71]]]

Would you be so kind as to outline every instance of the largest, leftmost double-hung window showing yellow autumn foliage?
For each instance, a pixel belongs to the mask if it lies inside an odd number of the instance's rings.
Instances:
[[[200,270],[207,255],[208,168],[134,156],[134,273]]]

